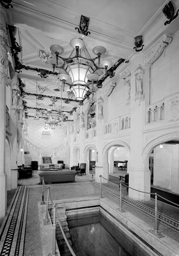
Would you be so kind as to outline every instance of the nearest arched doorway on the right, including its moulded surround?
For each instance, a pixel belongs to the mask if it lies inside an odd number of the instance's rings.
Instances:
[[[144,168],[151,171],[151,180],[148,181],[151,185],[179,194],[179,133],[166,134],[150,141],[143,151],[143,160]]]

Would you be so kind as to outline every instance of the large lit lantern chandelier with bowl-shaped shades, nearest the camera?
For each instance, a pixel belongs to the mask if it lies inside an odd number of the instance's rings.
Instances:
[[[84,22],[84,16],[81,16],[81,19]],[[82,22],[82,21],[81,21]],[[81,23],[80,23],[81,24]],[[89,24],[89,18],[88,18]],[[82,33],[83,34],[83,33]],[[89,33],[90,34],[90,33]],[[88,33],[87,33],[88,35]],[[85,46],[84,41],[81,38],[73,38],[70,41],[70,45],[73,48],[72,53],[68,58],[63,58],[61,56],[64,53],[64,49],[62,46],[53,44],[50,46],[50,51],[54,56],[49,58],[49,63],[52,64],[53,72],[55,67],[60,67],[66,72],[66,75],[70,76],[72,83],[68,84],[70,86],[71,91],[73,91],[76,100],[83,100],[85,98],[85,94],[89,91],[89,81],[92,81],[92,87],[95,80],[99,78],[99,74],[95,73],[98,70],[107,69],[112,65],[112,62],[102,61],[100,63],[100,57],[102,54],[106,53],[106,48],[103,46],[96,46],[92,49],[92,52],[97,55],[95,58],[91,58],[87,48]],[[56,60],[55,60],[56,58]],[[96,64],[95,61],[98,60]],[[100,64],[102,67],[100,67]],[[63,78],[64,74],[58,74],[58,78],[63,81],[63,87],[65,86],[66,81],[69,78]],[[89,75],[96,75],[95,79],[89,79]],[[97,77],[98,75],[98,77]],[[94,94],[92,89],[92,94]],[[92,96],[93,97],[93,96]]]

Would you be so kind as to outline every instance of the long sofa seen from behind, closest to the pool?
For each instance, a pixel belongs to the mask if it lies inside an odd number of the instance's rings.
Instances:
[[[42,177],[45,183],[50,182],[74,182],[75,170],[58,170],[58,171],[38,171],[39,182],[42,183]]]

